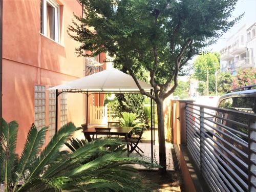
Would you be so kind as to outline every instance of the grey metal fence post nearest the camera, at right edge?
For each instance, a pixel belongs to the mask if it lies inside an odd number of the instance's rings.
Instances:
[[[252,151],[256,151],[256,121],[250,121],[250,133],[249,133],[249,191],[256,191],[256,188],[251,183],[256,183],[256,154]],[[253,163],[251,163],[253,162]]]

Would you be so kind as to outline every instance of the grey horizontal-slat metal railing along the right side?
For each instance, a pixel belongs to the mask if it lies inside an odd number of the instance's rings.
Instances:
[[[186,103],[186,145],[212,191],[256,191],[256,115]]]

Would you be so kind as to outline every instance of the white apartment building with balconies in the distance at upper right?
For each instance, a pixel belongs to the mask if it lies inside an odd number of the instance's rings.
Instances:
[[[236,75],[239,69],[256,67],[256,23],[242,26],[237,33],[227,39],[221,50],[221,72]]]

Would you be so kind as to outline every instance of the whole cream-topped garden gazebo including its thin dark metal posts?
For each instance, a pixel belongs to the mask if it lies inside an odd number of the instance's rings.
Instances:
[[[138,80],[142,89],[146,92],[151,92],[153,89],[150,84]],[[100,93],[100,92],[139,92],[139,89],[131,75],[127,75],[118,69],[111,68],[107,69],[80,79],[76,79],[59,86],[52,87],[48,90],[56,90],[56,114],[55,114],[55,131],[57,132],[57,122],[58,122],[58,95],[61,93],[85,93],[87,95],[87,119],[86,123],[88,125],[88,97],[89,93]],[[151,110],[152,110],[152,99],[151,99]],[[151,113],[152,114],[152,113]],[[151,126],[153,124],[151,115]],[[155,123],[154,123],[155,124]],[[155,129],[154,129],[155,131]],[[155,134],[154,134],[155,136]],[[153,160],[153,133],[151,127],[151,158]],[[155,137],[154,137],[155,138]]]

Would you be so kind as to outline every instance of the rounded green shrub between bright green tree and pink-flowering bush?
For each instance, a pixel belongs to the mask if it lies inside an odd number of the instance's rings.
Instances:
[[[219,94],[225,94],[231,89],[233,76],[230,73],[218,74],[217,91]]]

